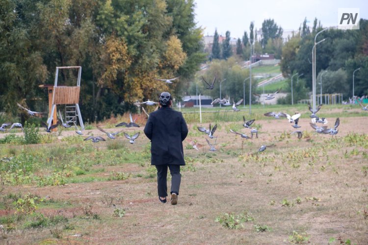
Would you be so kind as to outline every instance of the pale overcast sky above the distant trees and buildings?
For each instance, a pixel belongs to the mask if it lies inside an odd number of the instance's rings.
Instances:
[[[249,25],[262,27],[263,20],[273,19],[284,30],[298,30],[304,18],[313,25],[315,17],[323,26],[337,26],[338,8],[359,8],[360,18],[368,19],[368,0],[195,0],[197,26],[204,35],[213,36],[215,28],[225,36],[240,38]]]

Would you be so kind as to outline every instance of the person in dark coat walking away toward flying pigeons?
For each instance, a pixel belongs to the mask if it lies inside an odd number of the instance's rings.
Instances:
[[[171,174],[171,204],[178,203],[182,175],[180,166],[184,166],[183,141],[188,127],[181,112],[171,109],[172,98],[167,92],[159,97],[160,108],[150,113],[144,133],[151,140],[151,165],[157,169],[158,199],[166,203],[167,169]]]

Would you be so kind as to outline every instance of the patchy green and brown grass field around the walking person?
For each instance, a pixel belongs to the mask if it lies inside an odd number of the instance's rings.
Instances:
[[[141,132],[134,145],[121,134],[84,142],[72,130],[24,145],[21,132],[1,133],[0,243],[368,244],[367,112],[322,106],[329,127],[340,117],[331,136],[313,131],[306,105],[255,105],[251,116],[222,108],[203,113],[202,123],[195,110],[183,110],[189,134],[175,206],[158,201],[142,126],[123,129]],[[268,111],[301,112],[302,139],[286,119],[262,116]],[[242,116],[256,119],[258,139],[229,133],[249,135]],[[113,132],[125,117],[101,124]],[[197,130],[209,123],[218,124],[215,152]],[[104,137],[95,125],[84,133]]]

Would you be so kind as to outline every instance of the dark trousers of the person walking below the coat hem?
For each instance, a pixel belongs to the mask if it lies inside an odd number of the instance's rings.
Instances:
[[[167,196],[167,168],[170,169],[171,174],[171,192],[179,195],[180,182],[182,180],[182,174],[180,173],[180,165],[166,164],[155,165],[157,169],[157,189],[158,196]]]

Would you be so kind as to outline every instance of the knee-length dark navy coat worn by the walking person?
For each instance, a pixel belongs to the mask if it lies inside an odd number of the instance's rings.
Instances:
[[[182,142],[188,127],[181,112],[161,107],[150,113],[144,133],[151,140],[151,165],[185,165]]]

